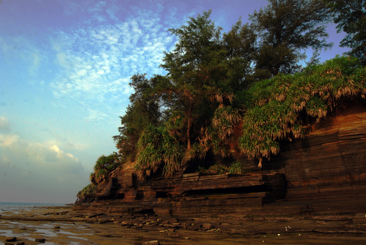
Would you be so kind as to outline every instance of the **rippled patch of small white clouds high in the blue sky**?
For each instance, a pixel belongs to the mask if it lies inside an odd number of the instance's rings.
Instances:
[[[104,113],[95,111],[102,111],[102,104],[124,103],[133,92],[128,86],[133,74],[165,73],[159,65],[174,38],[160,23],[159,13],[134,8],[133,14],[123,20],[112,14],[113,25],[79,25],[59,30],[51,38],[55,61],[62,67],[50,83],[52,93],[60,103],[79,101],[88,120],[119,116],[112,109],[107,111],[108,106]]]

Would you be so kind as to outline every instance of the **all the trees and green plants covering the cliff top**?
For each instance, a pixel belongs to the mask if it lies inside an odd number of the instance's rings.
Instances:
[[[119,135],[113,137],[118,153],[98,158],[91,181],[108,179],[127,162],[140,179],[169,177],[189,159],[203,159],[207,153],[226,157],[235,147],[258,159],[260,168],[263,158],[280,151],[281,140],[302,137],[310,123],[344,100],[364,101],[364,43],[357,41],[364,30],[345,28],[349,12],[341,11],[340,4],[269,0],[266,8],[250,15],[251,24],[239,20],[227,33],[209,19],[211,11],[169,29],[177,43],[161,64],[167,74],[131,77],[135,92],[121,117]],[[365,10],[364,0],[360,9]],[[332,17],[338,28],[353,33],[342,45],[348,44],[357,57],[338,56],[319,64],[319,51],[332,46],[324,39]],[[363,18],[355,16],[354,25]],[[314,54],[304,68],[299,61],[309,48]],[[197,168],[245,172],[240,162]]]

